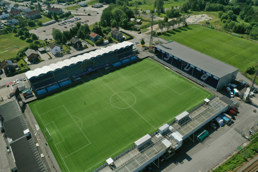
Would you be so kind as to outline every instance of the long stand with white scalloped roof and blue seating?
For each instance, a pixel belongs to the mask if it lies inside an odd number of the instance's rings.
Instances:
[[[30,70],[25,75],[34,93],[41,95],[72,84],[87,73],[103,68],[119,67],[119,65],[137,59],[132,49],[133,43],[124,41],[61,60],[56,64]]]

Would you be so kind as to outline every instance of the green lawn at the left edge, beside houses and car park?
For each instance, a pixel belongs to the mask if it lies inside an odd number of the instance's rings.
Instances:
[[[15,37],[14,33],[0,35],[0,45],[1,45],[0,61],[15,57],[17,52],[21,48],[28,46],[29,43],[32,43],[32,42],[33,41],[31,39],[28,40],[28,39],[25,39],[24,37]],[[44,41],[38,40],[35,43],[38,44],[40,42],[44,42]],[[15,48],[14,46],[18,46],[19,49]]]

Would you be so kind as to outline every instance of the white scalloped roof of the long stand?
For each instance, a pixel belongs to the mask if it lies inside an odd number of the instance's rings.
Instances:
[[[133,46],[133,43],[124,41],[122,43],[118,43],[117,45],[107,46],[106,48],[102,48],[101,50],[90,51],[89,53],[84,53],[83,55],[77,55],[76,57],[72,57],[71,59],[59,61],[56,64],[50,64],[48,67],[43,66],[42,68],[36,68],[34,70],[30,70],[26,72],[25,75],[28,79],[30,79],[32,77],[37,77],[41,74],[55,71],[56,69],[62,69],[64,67],[68,67],[72,64],[82,63],[86,60],[90,60],[91,58],[103,55],[105,53],[109,53],[111,51],[120,50],[121,48],[126,48],[129,46]]]

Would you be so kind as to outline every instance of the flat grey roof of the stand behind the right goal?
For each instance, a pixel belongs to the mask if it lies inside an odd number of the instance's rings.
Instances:
[[[160,50],[186,61],[187,63],[192,64],[216,77],[221,78],[228,73],[238,70],[238,68],[234,66],[200,53],[199,51],[191,49],[175,41],[156,45],[155,48],[159,48]]]

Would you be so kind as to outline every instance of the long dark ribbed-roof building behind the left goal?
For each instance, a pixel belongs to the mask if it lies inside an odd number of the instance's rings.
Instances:
[[[15,100],[1,104],[1,120],[6,133],[6,156],[10,171],[46,172],[36,144]],[[36,143],[36,144],[35,144]]]

